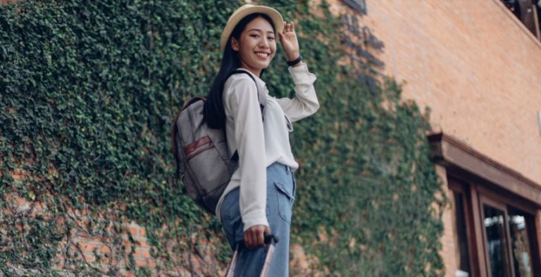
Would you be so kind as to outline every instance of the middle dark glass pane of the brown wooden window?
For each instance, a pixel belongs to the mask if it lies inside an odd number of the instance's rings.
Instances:
[[[504,211],[484,205],[487,252],[492,277],[510,277]]]

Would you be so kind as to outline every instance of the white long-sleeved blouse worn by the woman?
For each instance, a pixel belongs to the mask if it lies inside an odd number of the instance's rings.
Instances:
[[[310,116],[319,108],[313,88],[316,75],[309,72],[306,64],[288,70],[295,84],[294,99],[271,97],[265,82],[251,73],[256,82],[246,74],[235,74],[228,78],[223,88],[228,149],[230,156],[238,151],[239,166],[218,201],[216,215],[221,218],[220,209],[225,195],[240,186],[239,204],[244,230],[260,224],[268,226],[266,168],[274,162],[290,166],[293,171],[299,168],[290,146],[292,122]],[[265,106],[264,120],[260,102]]]

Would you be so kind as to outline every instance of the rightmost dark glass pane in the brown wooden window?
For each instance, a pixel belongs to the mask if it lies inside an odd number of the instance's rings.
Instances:
[[[511,230],[511,247],[513,247],[513,263],[516,277],[532,276],[532,258],[526,216],[519,211],[509,209],[509,230]]]

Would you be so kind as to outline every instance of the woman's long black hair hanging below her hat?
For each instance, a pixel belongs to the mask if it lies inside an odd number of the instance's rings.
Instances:
[[[231,46],[231,37],[235,39],[240,39],[240,33],[244,30],[246,25],[256,18],[263,18],[273,26],[274,32],[276,32],[273,24],[273,20],[270,19],[264,13],[251,13],[248,16],[242,18],[242,20],[237,23],[231,36],[228,38],[227,44],[225,44],[225,49],[223,51],[222,62],[220,63],[220,70],[212,82],[211,92],[209,92],[209,97],[206,98],[205,108],[204,108],[204,118],[206,124],[210,128],[220,129],[225,126],[225,111],[223,109],[223,85],[225,81],[228,80],[231,73],[240,67],[240,58],[239,54],[233,50]],[[264,69],[263,69],[264,70]],[[261,70],[260,76],[263,75],[263,70]]]

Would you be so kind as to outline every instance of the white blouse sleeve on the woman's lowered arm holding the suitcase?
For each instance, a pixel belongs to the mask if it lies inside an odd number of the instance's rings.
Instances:
[[[244,230],[266,225],[265,138],[256,84],[247,76],[235,77],[229,86],[228,105],[235,121],[235,142],[239,154],[240,214]]]

